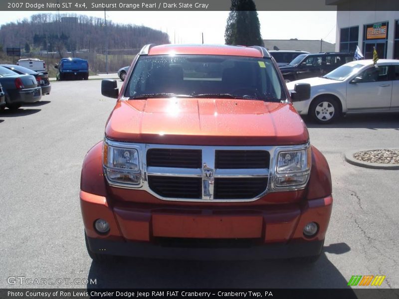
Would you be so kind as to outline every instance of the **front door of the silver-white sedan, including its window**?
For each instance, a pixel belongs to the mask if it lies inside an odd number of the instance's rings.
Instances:
[[[390,110],[393,81],[388,76],[389,67],[371,66],[347,82],[348,112]]]

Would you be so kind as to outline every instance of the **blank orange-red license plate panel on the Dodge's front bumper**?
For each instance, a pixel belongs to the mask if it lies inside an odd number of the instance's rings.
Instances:
[[[257,215],[153,214],[154,237],[248,239],[261,238],[263,217]]]

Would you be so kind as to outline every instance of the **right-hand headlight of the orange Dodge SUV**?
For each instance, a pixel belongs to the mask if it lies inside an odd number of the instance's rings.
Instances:
[[[300,189],[308,182],[311,167],[311,149],[280,149],[274,179],[275,189]]]

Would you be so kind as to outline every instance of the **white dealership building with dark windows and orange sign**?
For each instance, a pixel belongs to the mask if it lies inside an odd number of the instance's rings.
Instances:
[[[389,7],[392,0],[370,0],[375,7]],[[385,3],[386,2],[386,3]],[[372,3],[372,4],[373,4]],[[359,0],[326,0],[337,5],[336,51],[355,52],[359,46],[366,59],[399,59],[399,11],[352,11]],[[381,6],[383,5],[383,6]]]

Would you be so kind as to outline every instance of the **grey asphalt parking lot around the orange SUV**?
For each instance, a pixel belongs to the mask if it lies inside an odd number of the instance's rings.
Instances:
[[[119,81],[121,85],[122,82]],[[324,253],[314,266],[288,261],[93,263],[79,206],[85,153],[103,138],[115,100],[100,80],[52,82],[51,94],[0,113],[0,288],[7,278],[95,279],[94,288],[348,288],[353,275],[384,275],[399,288],[399,170],[348,164],[351,149],[399,148],[399,115],[353,116],[320,126],[311,143],[327,157],[334,206]],[[9,281],[9,280],[8,280]]]

